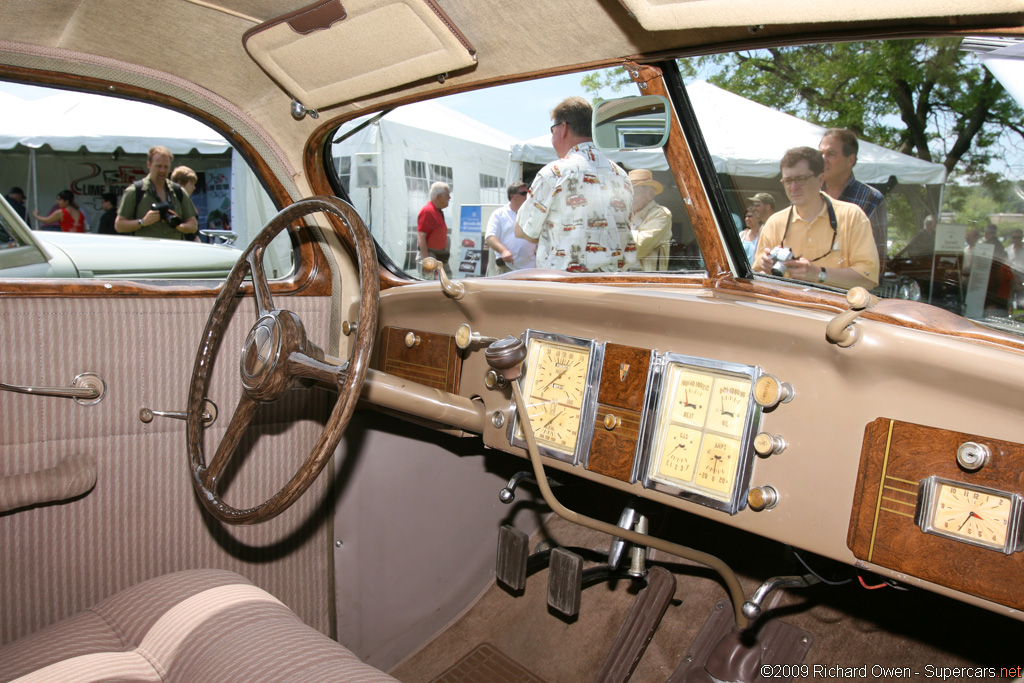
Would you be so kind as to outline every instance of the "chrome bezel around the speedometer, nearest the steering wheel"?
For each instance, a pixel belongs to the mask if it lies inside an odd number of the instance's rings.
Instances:
[[[552,332],[541,332],[538,330],[526,330],[523,333],[523,343],[526,344],[526,361],[522,370],[522,393],[523,398],[528,401],[531,387],[528,386],[530,380],[530,344],[536,340],[562,344],[565,346],[578,346],[585,348],[589,352],[589,359],[586,373],[583,397],[581,399],[580,427],[577,431],[575,449],[571,454],[562,453],[538,442],[538,451],[542,456],[554,458],[571,465],[581,464],[590,453],[591,440],[594,436],[594,421],[597,416],[597,390],[601,381],[601,368],[604,364],[604,344],[594,339],[584,339],[582,337],[569,337]],[[523,438],[519,425],[518,410],[512,412],[512,420],[509,421],[506,432],[509,442],[521,449],[526,447],[526,440]]]

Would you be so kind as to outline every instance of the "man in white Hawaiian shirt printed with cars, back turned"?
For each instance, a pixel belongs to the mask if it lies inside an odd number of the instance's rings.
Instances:
[[[538,172],[515,225],[516,237],[537,243],[539,268],[617,271],[636,263],[633,185],[594,146],[592,118],[583,97],[569,97],[551,112],[551,143],[559,159]]]

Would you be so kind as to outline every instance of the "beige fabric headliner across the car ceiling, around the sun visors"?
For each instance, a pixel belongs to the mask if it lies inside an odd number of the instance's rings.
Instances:
[[[302,154],[309,136],[329,118],[529,74],[749,41],[748,27],[766,24],[767,16],[797,18],[792,0],[630,0],[630,4],[656,7],[677,24],[686,25],[687,16],[699,16],[694,24],[707,25],[709,17],[718,15],[728,24],[647,31],[617,0],[438,0],[476,49],[476,67],[450,75],[443,85],[436,80],[421,81],[336,106],[319,121],[307,117],[296,122],[289,114],[288,96],[245,53],[242,36],[260,22],[306,4],[305,0],[5,0],[0,3],[0,65],[38,68],[39,48],[43,48],[45,66],[52,71],[141,85],[178,98],[184,94],[186,101],[225,121],[269,157],[271,169],[289,191],[304,193],[308,185],[301,177]],[[804,23],[766,24],[758,38],[785,41],[838,30],[941,31],[1024,25],[1024,0],[883,3],[898,5],[896,14],[906,9],[921,13],[849,23],[836,20],[834,2],[802,0],[798,4]],[[387,48],[386,36],[380,44]],[[26,58],[27,52],[35,56]],[[317,65],[315,53],[309,58]],[[328,70],[330,65],[323,68]],[[119,71],[129,75],[119,75]]]

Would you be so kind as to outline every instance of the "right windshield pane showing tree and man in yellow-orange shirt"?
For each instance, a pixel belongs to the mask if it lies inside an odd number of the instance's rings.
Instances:
[[[1016,44],[865,41],[680,60],[754,269],[1019,330]]]

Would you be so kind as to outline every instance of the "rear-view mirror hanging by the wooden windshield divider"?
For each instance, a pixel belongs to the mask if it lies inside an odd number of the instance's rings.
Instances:
[[[594,108],[599,150],[652,150],[669,139],[669,100],[662,95],[605,99]]]

